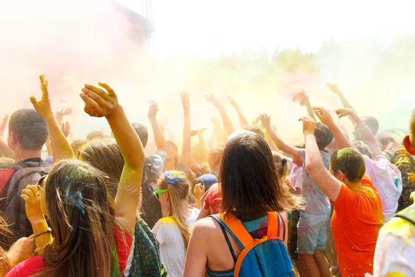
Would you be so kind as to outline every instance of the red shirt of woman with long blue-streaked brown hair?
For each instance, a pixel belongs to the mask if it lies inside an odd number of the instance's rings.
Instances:
[[[124,269],[127,266],[127,259],[131,250],[133,238],[129,233],[122,231],[120,228],[116,226],[113,229],[113,233],[122,276],[122,272],[124,272]],[[33,258],[25,260],[24,262],[20,262],[19,265],[13,267],[13,269],[10,270],[6,276],[32,276],[33,274],[37,274],[40,271],[42,271],[42,262],[43,268],[46,269],[48,265],[46,265],[46,262],[44,262],[43,256],[35,256]]]

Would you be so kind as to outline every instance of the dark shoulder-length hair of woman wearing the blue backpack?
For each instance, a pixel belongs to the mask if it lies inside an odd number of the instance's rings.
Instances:
[[[221,213],[266,214],[299,208],[278,178],[273,154],[256,134],[236,136],[225,145],[221,169]]]

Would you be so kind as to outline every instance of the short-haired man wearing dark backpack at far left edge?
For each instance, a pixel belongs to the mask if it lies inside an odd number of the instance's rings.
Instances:
[[[10,117],[8,146],[15,152],[17,163],[0,170],[0,211],[13,233],[2,236],[5,248],[33,233],[20,193],[50,171],[50,164],[40,158],[47,137],[46,122],[34,109],[19,109]]]

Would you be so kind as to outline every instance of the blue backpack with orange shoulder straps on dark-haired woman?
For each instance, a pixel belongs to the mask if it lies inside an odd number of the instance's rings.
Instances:
[[[286,276],[295,277],[290,256],[280,237],[280,217],[278,213],[268,212],[267,234],[264,238],[253,239],[245,226],[230,214],[212,215],[242,248],[234,267],[234,276]]]

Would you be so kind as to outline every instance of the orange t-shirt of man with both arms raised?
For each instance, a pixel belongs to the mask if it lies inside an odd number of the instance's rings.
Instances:
[[[349,276],[371,271],[376,240],[384,216],[382,202],[369,177],[362,178],[363,189],[342,184],[335,200],[331,230],[340,269]]]

